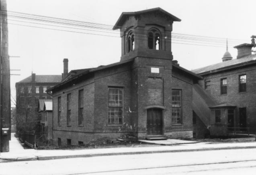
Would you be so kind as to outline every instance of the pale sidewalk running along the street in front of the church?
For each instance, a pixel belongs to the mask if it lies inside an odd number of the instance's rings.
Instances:
[[[18,143],[18,144],[17,144]],[[223,149],[251,149],[256,148],[256,142],[223,143],[223,144],[179,144],[173,146],[155,147],[124,147],[106,149],[79,149],[79,150],[35,150],[23,149],[14,136],[10,141],[10,152],[0,153],[0,159],[9,161],[32,161],[49,159],[66,159],[76,157],[95,157],[109,155],[132,155],[149,153],[172,153],[189,151],[210,151]]]

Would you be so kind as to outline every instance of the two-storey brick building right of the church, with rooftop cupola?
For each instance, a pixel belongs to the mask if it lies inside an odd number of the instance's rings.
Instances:
[[[255,44],[235,46],[236,59],[226,51],[223,62],[193,70],[203,77],[193,87],[194,118],[203,123],[194,126],[194,135],[203,136],[206,127],[211,136],[255,134],[256,54],[252,47]]]

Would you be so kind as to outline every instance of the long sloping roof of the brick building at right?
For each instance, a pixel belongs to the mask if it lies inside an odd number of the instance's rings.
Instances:
[[[256,63],[256,54],[248,55],[240,59],[231,59],[229,61],[224,61],[221,63],[201,67],[199,69],[192,70],[192,72],[197,73],[199,75],[205,75],[208,73],[215,73],[218,71],[223,71],[226,69],[241,67],[244,65],[250,65],[254,63]]]

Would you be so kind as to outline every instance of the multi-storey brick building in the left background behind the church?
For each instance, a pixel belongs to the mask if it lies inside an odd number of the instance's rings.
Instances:
[[[61,75],[35,75],[16,83],[16,127],[17,131],[35,129],[38,118],[39,99],[51,99],[46,90],[61,82]],[[26,122],[27,118],[27,122]],[[27,123],[25,128],[25,123]]]

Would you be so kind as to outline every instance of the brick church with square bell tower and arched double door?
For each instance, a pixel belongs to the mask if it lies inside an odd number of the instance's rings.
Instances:
[[[193,83],[202,77],[173,60],[177,21],[161,8],[123,12],[113,27],[120,30],[119,62],[69,73],[64,65],[64,80],[47,90],[53,96],[56,144],[126,134],[193,137]]]

